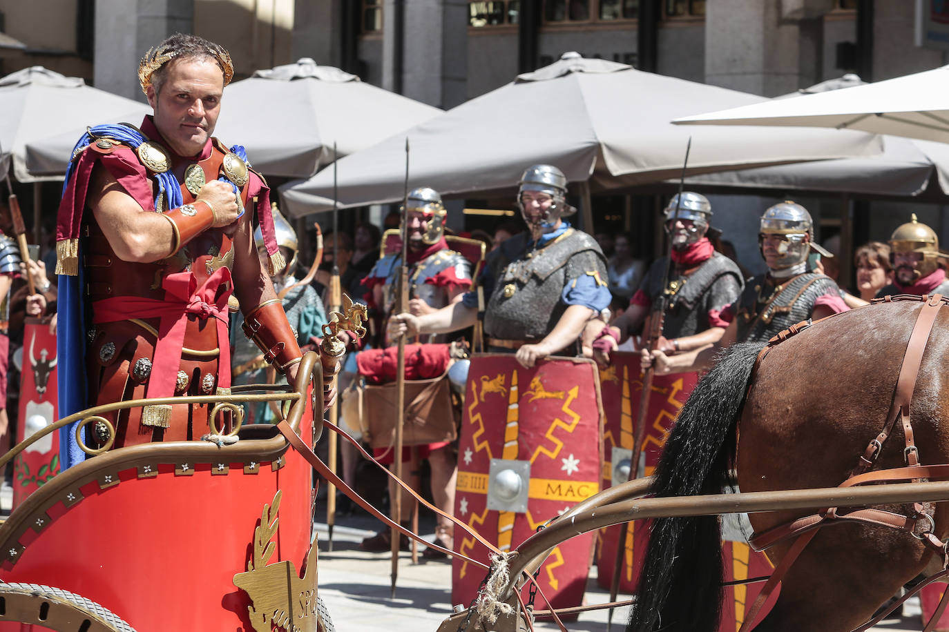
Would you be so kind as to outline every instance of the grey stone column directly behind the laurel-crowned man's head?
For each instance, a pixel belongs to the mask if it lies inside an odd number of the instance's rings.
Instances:
[[[194,16],[194,0],[96,0],[96,87],[144,101],[141,56],[173,33],[192,32]]]

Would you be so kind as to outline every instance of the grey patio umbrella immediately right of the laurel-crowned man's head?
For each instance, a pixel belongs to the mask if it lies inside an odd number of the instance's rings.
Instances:
[[[214,135],[266,175],[306,178],[335,159],[333,142],[347,155],[441,112],[307,58],[225,88]]]

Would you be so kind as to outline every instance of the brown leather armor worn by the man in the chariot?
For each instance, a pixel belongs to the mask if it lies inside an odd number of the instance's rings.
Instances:
[[[214,140],[210,156],[197,163],[206,181],[218,178],[226,151]],[[173,164],[172,168],[180,169],[181,165]],[[154,176],[151,171],[149,175]],[[153,189],[157,190],[154,179],[152,183]],[[242,193],[245,206],[247,191],[245,186]],[[184,204],[195,200],[195,195],[183,184],[181,194]],[[87,209],[83,215],[84,291],[90,305],[117,297],[165,300],[162,282],[171,274],[190,271],[197,287],[201,287],[219,268],[233,269],[233,240],[221,228],[205,230],[184,244],[175,255],[159,262],[125,262],[109,245],[94,213]],[[230,295],[233,283],[222,283],[214,291],[215,297],[223,297],[224,293]],[[156,367],[154,370],[177,372],[176,395],[214,394],[217,392],[220,350],[230,342],[218,339],[214,316],[188,315],[187,318],[180,366]],[[87,316],[86,322],[92,323],[93,320]],[[86,368],[90,405],[146,396],[158,329],[158,317],[88,325]],[[160,411],[164,416],[160,421],[150,419],[155,412],[153,406],[121,411],[118,420],[116,413],[104,416],[116,425],[115,445],[119,447],[151,441],[200,439],[210,431],[208,414],[211,407],[213,405],[166,406]]]

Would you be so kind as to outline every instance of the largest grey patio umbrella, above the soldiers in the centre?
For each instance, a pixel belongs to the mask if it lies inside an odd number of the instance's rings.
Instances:
[[[608,190],[678,177],[693,137],[689,172],[704,173],[879,153],[876,136],[827,130],[686,130],[673,117],[754,103],[760,97],[641,72],[567,53],[560,61],[472,99],[340,160],[342,207],[402,197],[404,143],[410,187],[443,196],[511,189],[524,169],[546,162],[571,182]],[[292,215],[332,208],[332,173],[281,188]]]

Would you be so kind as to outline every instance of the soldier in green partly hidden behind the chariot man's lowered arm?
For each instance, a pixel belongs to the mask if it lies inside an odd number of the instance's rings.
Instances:
[[[297,278],[293,274],[297,268],[300,249],[296,230],[276,208],[276,204],[271,204],[270,207],[273,211],[274,236],[280,247],[280,254],[287,262],[282,270],[270,276],[270,281],[273,283],[274,291],[277,292],[277,297],[283,302],[290,327],[296,332],[297,344],[301,348],[315,349],[318,340],[323,337],[321,328],[326,324],[326,309],[320,295],[312,285],[297,283]],[[266,262],[268,260],[267,244],[264,242],[260,226],[253,230],[253,243],[257,246],[261,261]],[[281,294],[283,294],[282,297]],[[237,325],[242,325],[243,322],[244,318],[240,313],[234,315],[231,332],[233,384],[268,384],[266,373],[269,363],[264,359],[263,353],[247,336],[237,334]],[[286,384],[286,379],[280,376],[277,384]],[[268,424],[274,419],[272,408],[266,402],[248,403],[244,407],[247,411],[246,423],[248,424]]]

